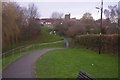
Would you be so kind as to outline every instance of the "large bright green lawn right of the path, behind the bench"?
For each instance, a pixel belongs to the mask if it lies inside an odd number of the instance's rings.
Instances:
[[[94,78],[117,78],[118,58],[72,48],[50,51],[36,63],[37,78],[76,78],[80,70]]]

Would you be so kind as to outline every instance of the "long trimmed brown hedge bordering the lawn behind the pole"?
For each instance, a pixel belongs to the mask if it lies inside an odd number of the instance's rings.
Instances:
[[[75,44],[92,50],[99,51],[101,43],[102,53],[118,54],[118,34],[98,35],[88,34],[79,35],[75,38]]]

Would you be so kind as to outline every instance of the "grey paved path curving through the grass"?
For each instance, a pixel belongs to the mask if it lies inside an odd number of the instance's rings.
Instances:
[[[44,53],[63,48],[50,48],[35,51],[31,54],[28,54],[7,67],[3,73],[2,78],[35,78],[35,62],[40,58]]]

